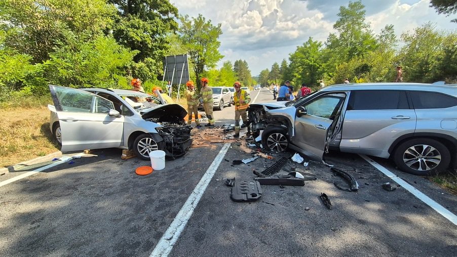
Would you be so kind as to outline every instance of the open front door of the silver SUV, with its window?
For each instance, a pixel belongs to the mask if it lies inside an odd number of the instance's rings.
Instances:
[[[345,99],[345,93],[330,93],[297,107],[292,144],[303,154],[323,161],[327,141],[338,122]]]

